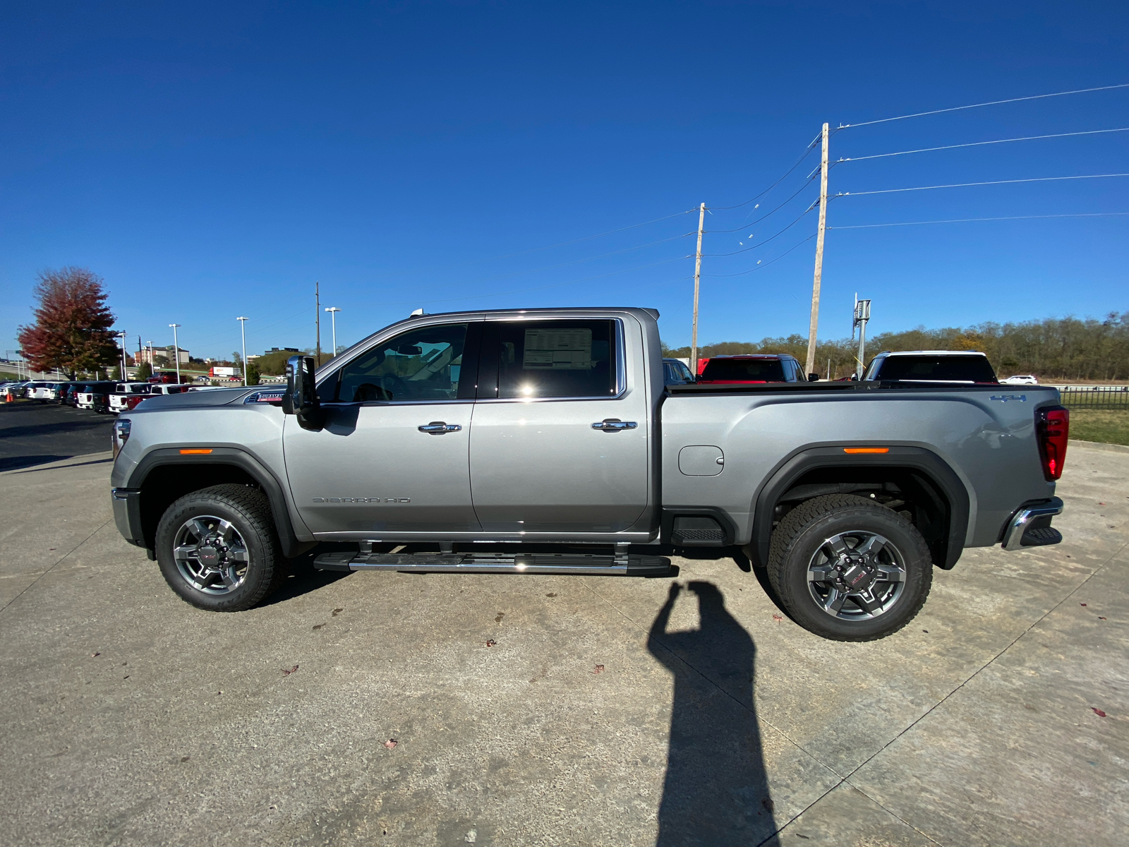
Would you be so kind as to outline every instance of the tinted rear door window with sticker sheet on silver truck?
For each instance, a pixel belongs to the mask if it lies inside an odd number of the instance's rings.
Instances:
[[[491,323],[479,398],[610,398],[618,393],[615,321]]]

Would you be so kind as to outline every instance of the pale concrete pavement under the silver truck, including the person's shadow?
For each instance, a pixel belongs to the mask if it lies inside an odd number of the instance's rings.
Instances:
[[[43,454],[47,451],[37,451]],[[676,579],[320,574],[181,602],[108,454],[0,473],[0,841],[1121,847],[1129,455],[1057,547],[965,551],[870,644]]]

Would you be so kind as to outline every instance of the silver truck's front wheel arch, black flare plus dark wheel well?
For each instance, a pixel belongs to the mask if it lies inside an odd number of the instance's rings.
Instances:
[[[225,482],[254,486],[266,495],[282,555],[294,558],[314,547],[295,533],[282,482],[259,460],[238,447],[212,447],[208,454],[183,454],[176,447],[148,453],[133,469],[126,487],[138,492],[134,538],[154,550],[157,524],[174,501],[192,491]],[[151,558],[151,555],[150,555]]]

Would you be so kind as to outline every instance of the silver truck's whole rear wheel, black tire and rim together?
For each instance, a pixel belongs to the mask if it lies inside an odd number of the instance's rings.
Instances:
[[[896,632],[933,582],[929,548],[904,517],[855,495],[816,497],[772,533],[769,582],[805,629],[838,641]]]

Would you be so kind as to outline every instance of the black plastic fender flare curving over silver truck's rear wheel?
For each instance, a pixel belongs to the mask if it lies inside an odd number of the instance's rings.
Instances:
[[[971,512],[969,491],[961,478],[945,460],[924,447],[890,446],[886,453],[843,452],[844,447],[858,446],[857,442],[851,442],[807,447],[785,459],[753,500],[753,536],[749,552],[755,555],[758,564],[768,564],[769,544],[772,539],[772,510],[780,497],[808,471],[820,468],[909,468],[925,474],[948,501],[948,538],[945,556],[943,561],[936,564],[945,570],[952,569],[964,551]]]

